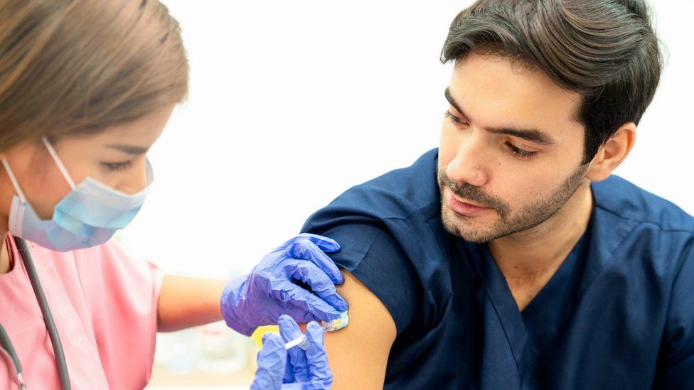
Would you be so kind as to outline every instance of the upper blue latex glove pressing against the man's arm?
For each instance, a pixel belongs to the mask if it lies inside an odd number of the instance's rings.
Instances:
[[[347,310],[335,283],[342,273],[324,253],[340,249],[337,242],[316,234],[299,234],[265,255],[247,276],[230,281],[220,300],[225,322],[250,336],[256,327],[275,325],[282,314],[299,323],[331,321]],[[311,287],[311,291],[295,281]]]

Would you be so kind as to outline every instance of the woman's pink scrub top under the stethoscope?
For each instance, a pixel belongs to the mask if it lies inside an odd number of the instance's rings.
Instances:
[[[14,267],[0,275],[0,323],[18,354],[27,388],[60,389],[41,308],[14,239],[7,236]],[[154,361],[161,270],[133,259],[115,240],[66,253],[27,244],[73,389],[144,388]],[[0,355],[0,389],[17,389],[14,365]]]

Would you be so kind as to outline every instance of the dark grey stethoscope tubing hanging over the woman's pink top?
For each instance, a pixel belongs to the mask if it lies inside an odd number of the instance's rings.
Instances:
[[[50,314],[50,308],[48,307],[48,301],[46,300],[46,295],[43,293],[43,288],[41,287],[41,281],[38,280],[38,273],[36,273],[36,267],[33,265],[33,259],[31,259],[31,253],[29,252],[26,242],[19,238],[14,237],[14,242],[17,245],[17,251],[24,264],[26,273],[31,281],[31,287],[33,288],[34,296],[38,300],[38,305],[41,307],[41,314],[43,314],[43,323],[46,324],[46,330],[48,330],[48,335],[50,336],[50,344],[53,345],[53,353],[55,354],[55,366],[58,367],[58,376],[60,377],[60,387],[63,390],[70,390],[70,377],[68,376],[68,365],[65,362],[65,354],[63,353],[63,345],[60,343],[60,336],[58,336],[58,329],[55,327],[55,322],[53,321],[53,315]],[[14,369],[17,373],[17,379],[19,381],[19,388],[26,390],[26,385],[24,384],[24,377],[22,376],[21,364],[19,362],[19,357],[12,347],[10,338],[5,332],[4,327],[0,324],[0,350],[5,352],[10,359],[12,364],[14,364]]]

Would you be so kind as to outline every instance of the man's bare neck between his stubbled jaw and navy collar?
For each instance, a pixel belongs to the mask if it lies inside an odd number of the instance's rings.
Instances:
[[[582,237],[592,208],[592,192],[586,183],[557,214],[538,227],[489,242],[489,250],[509,286],[544,286]]]

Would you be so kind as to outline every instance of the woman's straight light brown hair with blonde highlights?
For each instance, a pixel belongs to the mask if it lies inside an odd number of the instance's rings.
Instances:
[[[181,102],[181,30],[156,0],[0,1],[0,151]]]

